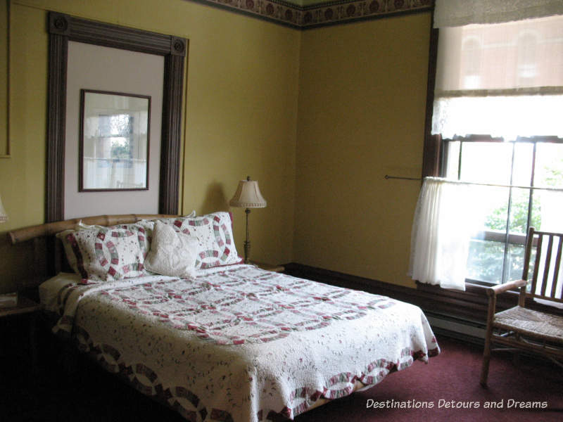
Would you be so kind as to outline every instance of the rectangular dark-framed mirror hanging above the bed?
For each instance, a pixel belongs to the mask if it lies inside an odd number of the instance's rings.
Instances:
[[[80,90],[79,190],[148,189],[151,97]]]

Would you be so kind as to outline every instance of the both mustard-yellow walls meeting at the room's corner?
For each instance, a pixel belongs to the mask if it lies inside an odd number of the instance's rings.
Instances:
[[[256,260],[412,286],[419,184],[384,175],[420,174],[430,13],[299,32],[185,0],[13,0],[0,290],[30,274],[30,247],[4,234],[44,222],[48,10],[189,39],[183,212],[228,210],[249,174],[268,201],[251,212]]]

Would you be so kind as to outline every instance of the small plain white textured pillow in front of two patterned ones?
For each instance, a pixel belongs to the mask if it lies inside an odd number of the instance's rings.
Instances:
[[[163,276],[194,277],[198,248],[197,238],[178,233],[172,226],[157,221],[144,266]]]

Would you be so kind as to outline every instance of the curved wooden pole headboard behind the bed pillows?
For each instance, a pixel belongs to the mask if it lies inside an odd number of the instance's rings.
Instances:
[[[158,219],[177,217],[167,214],[124,214],[124,215],[96,215],[93,217],[82,217],[63,220],[37,226],[23,227],[8,231],[8,238],[12,245],[33,241],[33,260],[35,274],[33,284],[39,285],[60,271],[68,270],[66,257],[63,252],[61,241],[56,234],[67,229],[74,229],[81,220],[84,224],[96,224],[99,226],[117,226],[119,224],[135,223],[142,219]],[[28,286],[30,287],[30,286]]]

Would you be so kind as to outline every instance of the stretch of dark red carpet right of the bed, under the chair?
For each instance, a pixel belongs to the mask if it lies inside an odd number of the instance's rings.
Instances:
[[[523,357],[515,366],[512,355],[493,354],[488,388],[483,389],[479,385],[482,347],[450,338],[438,337],[438,343],[442,352],[429,364],[415,362],[367,391],[298,416],[296,422],[563,421],[563,369],[555,364]],[[385,403],[381,409],[367,409],[369,399]],[[518,407],[534,402],[547,408]],[[405,408],[409,404],[419,408]],[[495,404],[499,409],[485,408]],[[463,408],[469,406],[474,409]]]

